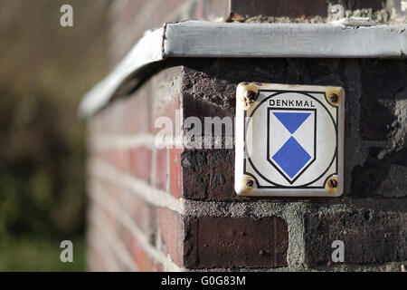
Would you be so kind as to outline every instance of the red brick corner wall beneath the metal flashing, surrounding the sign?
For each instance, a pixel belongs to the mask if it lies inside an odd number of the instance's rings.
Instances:
[[[136,11],[120,14],[127,10]],[[136,23],[135,15],[128,17]],[[141,27],[131,31],[139,36]],[[113,48],[114,59],[126,45]],[[89,121],[89,269],[400,271],[407,261],[405,80],[405,60],[167,62]],[[190,116],[233,118],[235,89],[244,81],[345,88],[343,197],[239,197],[234,149],[156,146],[159,117],[174,124]],[[175,138],[186,132],[173,131]],[[344,263],[331,260],[335,240],[344,241]]]

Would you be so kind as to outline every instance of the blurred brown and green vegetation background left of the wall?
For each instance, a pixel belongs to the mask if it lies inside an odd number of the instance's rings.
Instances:
[[[108,3],[0,0],[0,271],[85,269],[77,109],[108,73]],[[74,27],[60,25],[63,4]],[[74,263],[60,261],[64,239]]]

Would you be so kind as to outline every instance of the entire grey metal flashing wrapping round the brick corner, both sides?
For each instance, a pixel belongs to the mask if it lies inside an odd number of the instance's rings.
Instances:
[[[406,52],[407,24],[165,24],[145,34],[114,71],[84,96],[80,115],[99,111],[120,94],[129,77],[136,78],[166,58],[405,58]]]

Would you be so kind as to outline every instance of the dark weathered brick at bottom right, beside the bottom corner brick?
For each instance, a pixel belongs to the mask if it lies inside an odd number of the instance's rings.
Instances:
[[[383,264],[407,259],[407,214],[354,210],[305,217],[305,263],[332,265],[332,242],[345,244],[345,264]]]

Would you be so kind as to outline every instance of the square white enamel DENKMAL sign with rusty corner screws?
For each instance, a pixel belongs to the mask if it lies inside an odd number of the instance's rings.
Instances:
[[[342,195],[344,104],[341,87],[241,82],[236,92],[237,194]]]

